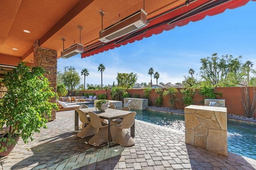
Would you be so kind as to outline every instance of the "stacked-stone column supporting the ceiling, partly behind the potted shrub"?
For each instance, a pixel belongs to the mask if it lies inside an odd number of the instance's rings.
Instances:
[[[50,87],[57,88],[57,51],[40,47],[39,40],[34,43],[34,66],[45,68],[47,73],[44,74],[50,81]],[[50,73],[48,73],[50,71]],[[50,102],[56,103],[56,97],[51,98]],[[52,110],[51,121],[56,119],[56,111]]]

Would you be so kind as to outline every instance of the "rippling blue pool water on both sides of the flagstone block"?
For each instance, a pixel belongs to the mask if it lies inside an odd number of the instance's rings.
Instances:
[[[185,131],[184,115],[159,111],[136,111],[135,119]],[[256,159],[256,125],[228,121],[228,151]]]

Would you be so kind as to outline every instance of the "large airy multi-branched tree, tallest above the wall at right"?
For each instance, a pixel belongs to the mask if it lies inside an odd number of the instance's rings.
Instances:
[[[213,85],[218,85],[228,77],[230,72],[240,73],[242,56],[234,58],[232,55],[218,56],[218,53],[213,53],[211,57],[200,59],[202,66],[200,73],[205,81],[210,81]]]

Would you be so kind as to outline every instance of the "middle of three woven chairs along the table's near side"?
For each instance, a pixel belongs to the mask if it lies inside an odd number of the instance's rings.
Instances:
[[[93,146],[98,146],[108,142],[108,124],[100,121],[100,117],[93,112],[88,112],[91,124],[94,128],[99,128],[100,130],[96,133],[90,140],[89,144]]]

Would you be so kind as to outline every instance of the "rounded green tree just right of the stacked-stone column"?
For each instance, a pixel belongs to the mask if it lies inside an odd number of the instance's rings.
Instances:
[[[76,69],[72,66],[65,67],[64,73],[62,75],[63,84],[68,87],[68,89],[71,91],[74,90],[74,88],[80,84],[80,76],[76,72]]]

